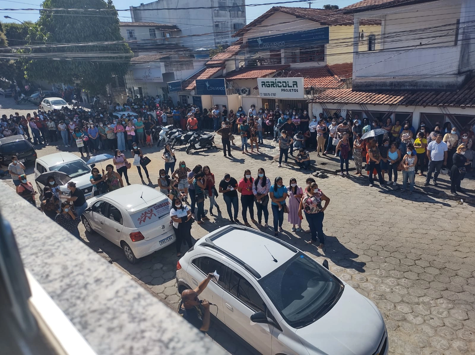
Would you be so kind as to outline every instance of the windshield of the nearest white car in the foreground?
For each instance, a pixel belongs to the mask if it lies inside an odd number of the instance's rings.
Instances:
[[[312,324],[327,313],[343,284],[305,254],[297,254],[259,280],[269,299],[294,328]]]

